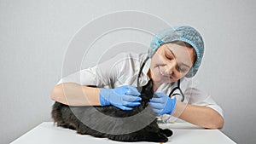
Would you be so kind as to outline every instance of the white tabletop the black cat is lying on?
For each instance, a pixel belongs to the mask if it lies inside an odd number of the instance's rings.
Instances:
[[[234,144],[229,137],[220,130],[205,130],[193,124],[160,124],[161,128],[173,130],[173,135],[166,143],[172,144]],[[90,135],[79,135],[74,130],[63,129],[54,126],[53,122],[44,122],[25,135],[13,141],[11,144],[108,144],[124,143],[111,141],[107,138],[95,138]],[[140,144],[152,144],[154,142],[134,142]]]

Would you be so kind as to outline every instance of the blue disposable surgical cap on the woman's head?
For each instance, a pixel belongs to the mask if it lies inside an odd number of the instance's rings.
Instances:
[[[192,78],[198,71],[204,54],[204,42],[202,40],[201,34],[197,32],[195,28],[191,26],[177,26],[159,32],[154,36],[153,40],[150,43],[150,48],[148,49],[148,56],[152,58],[155,51],[161,45],[165,43],[172,43],[174,41],[182,41],[189,43],[195,49],[195,63],[185,76],[187,78]]]

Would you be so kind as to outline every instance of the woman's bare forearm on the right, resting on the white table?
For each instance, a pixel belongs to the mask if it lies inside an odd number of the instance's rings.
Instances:
[[[177,101],[173,116],[207,129],[222,129],[224,118],[210,107],[193,106]]]

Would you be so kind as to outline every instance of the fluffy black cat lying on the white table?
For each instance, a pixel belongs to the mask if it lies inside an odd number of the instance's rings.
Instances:
[[[156,113],[148,105],[153,95],[153,82],[150,80],[143,86],[141,105],[131,111],[113,106],[69,107],[55,102],[51,115],[58,126],[77,130],[82,135],[107,137],[114,141],[166,142],[167,137],[172,135],[172,130],[162,130],[156,123]],[[137,114],[141,115],[136,117]]]

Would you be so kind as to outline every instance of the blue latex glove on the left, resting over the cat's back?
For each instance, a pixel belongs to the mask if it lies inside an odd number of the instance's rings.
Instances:
[[[139,106],[142,101],[141,95],[134,86],[121,86],[115,89],[101,89],[100,101],[102,106],[113,105],[122,110],[132,110],[132,107]]]

